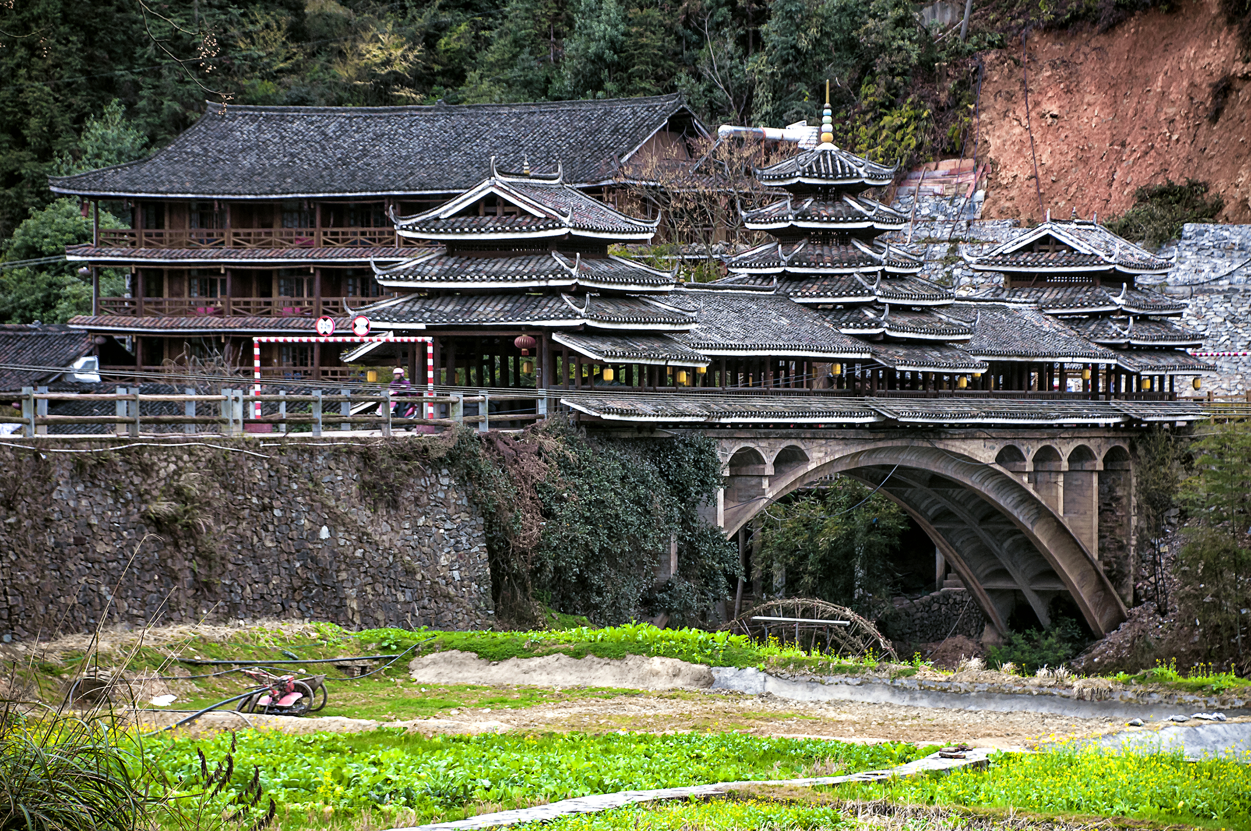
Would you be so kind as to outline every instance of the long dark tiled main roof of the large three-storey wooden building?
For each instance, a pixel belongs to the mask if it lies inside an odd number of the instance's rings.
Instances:
[[[458,193],[490,156],[520,170],[563,164],[575,185],[613,178],[672,115],[678,95],[430,106],[236,106],[205,114],[149,159],[53,178],[60,193],[159,196],[315,196]],[[698,130],[703,131],[699,126]]]

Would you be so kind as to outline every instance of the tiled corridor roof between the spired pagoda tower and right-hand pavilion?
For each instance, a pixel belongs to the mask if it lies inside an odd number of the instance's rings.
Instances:
[[[942,314],[973,324],[973,337],[961,348],[991,360],[1092,360],[1112,363],[1115,353],[1081,337],[1037,308],[990,303],[953,303]]]

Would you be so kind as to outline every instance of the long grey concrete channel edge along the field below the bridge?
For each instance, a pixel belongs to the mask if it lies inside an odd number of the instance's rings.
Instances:
[[[1251,716],[1242,698],[1217,700],[1188,693],[1161,695],[1133,691],[1101,691],[1106,697],[1088,701],[1066,687],[1001,692],[993,685],[961,681],[916,681],[914,678],[868,680],[826,676],[819,681],[783,678],[754,668],[713,667],[713,690],[748,695],[772,693],[792,701],[858,701],[867,703],[981,710],[992,712],[1045,712],[1081,718],[1163,720],[1178,713],[1222,710],[1227,716]],[[1232,706],[1231,706],[1232,705]]]

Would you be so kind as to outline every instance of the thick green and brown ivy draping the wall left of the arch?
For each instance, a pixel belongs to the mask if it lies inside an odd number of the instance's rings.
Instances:
[[[519,436],[459,429],[359,452],[369,457],[362,488],[379,499],[413,466],[444,466],[473,486],[497,614],[510,623],[538,625],[543,606],[600,625],[694,623],[738,576],[737,549],[699,517],[722,487],[707,438],[598,439],[552,421]]]

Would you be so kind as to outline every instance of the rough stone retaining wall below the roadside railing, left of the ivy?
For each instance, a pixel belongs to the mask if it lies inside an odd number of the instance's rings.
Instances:
[[[317,444],[0,448],[0,638],[86,631],[106,606],[110,626],[490,626],[483,518],[465,487],[438,464],[394,462],[394,446],[367,461]]]

